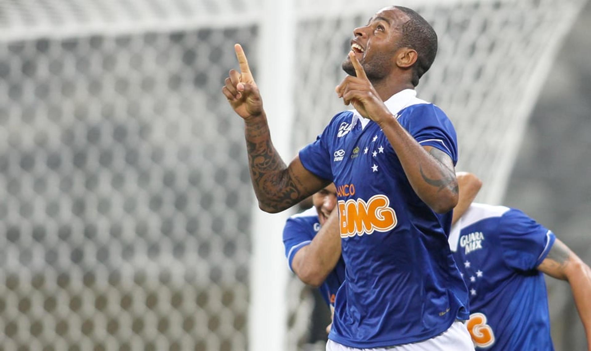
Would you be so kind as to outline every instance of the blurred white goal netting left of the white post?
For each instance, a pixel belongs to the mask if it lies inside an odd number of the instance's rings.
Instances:
[[[246,349],[236,41],[255,27],[0,43],[0,348]]]

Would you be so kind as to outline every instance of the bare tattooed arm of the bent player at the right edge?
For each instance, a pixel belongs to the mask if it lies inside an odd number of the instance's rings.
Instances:
[[[587,334],[587,349],[591,351],[591,269],[569,247],[556,239],[538,270],[569,282]]]

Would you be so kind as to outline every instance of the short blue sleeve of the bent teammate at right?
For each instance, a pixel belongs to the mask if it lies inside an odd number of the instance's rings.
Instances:
[[[554,233],[515,209],[503,214],[498,231],[505,263],[518,271],[537,268],[556,240]]]

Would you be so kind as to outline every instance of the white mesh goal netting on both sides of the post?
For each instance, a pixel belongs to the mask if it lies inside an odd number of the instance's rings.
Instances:
[[[580,2],[410,5],[440,37],[419,90],[456,124],[459,169],[502,176]],[[258,5],[0,0],[1,349],[247,348],[251,185],[220,87],[235,42],[264,69]],[[352,28],[384,5],[298,2],[294,153],[342,109]],[[306,342],[300,286],[286,350]]]

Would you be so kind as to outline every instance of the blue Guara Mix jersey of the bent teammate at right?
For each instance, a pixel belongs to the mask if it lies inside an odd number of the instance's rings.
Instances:
[[[470,294],[477,349],[554,350],[543,273],[554,234],[519,210],[472,204],[449,244]]]

